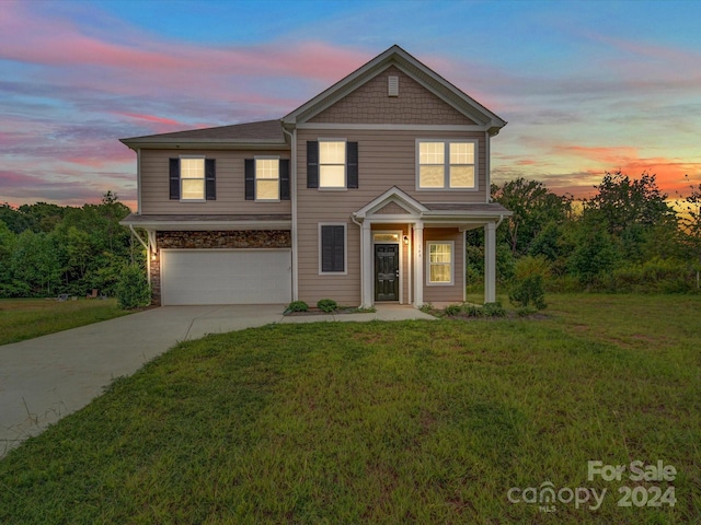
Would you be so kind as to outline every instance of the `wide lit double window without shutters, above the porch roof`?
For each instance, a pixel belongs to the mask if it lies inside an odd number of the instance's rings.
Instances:
[[[417,189],[476,189],[475,140],[417,140]]]

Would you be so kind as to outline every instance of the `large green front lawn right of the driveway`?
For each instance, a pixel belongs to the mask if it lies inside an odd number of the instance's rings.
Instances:
[[[180,343],[0,460],[0,523],[701,523],[701,298],[549,301]]]

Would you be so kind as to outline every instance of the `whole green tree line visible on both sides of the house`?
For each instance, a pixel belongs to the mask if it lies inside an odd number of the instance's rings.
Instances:
[[[492,186],[513,215],[497,229],[502,285],[542,277],[551,291],[686,292],[699,288],[701,184],[673,207],[655,175],[606,173],[583,201],[538,180]],[[681,208],[681,209],[679,209]],[[146,254],[119,221],[130,212],[108,191],[100,205],[0,206],[0,296],[114,295],[125,267]],[[484,233],[467,232],[468,285],[484,275]]]

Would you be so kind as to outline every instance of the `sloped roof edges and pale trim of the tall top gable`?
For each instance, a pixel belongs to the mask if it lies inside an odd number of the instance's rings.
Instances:
[[[424,66],[398,45],[390,47],[365,66],[361,66],[353,73],[286,115],[283,118],[283,125],[291,129],[298,124],[308,121],[392,66],[410,75],[426,90],[445,101],[466,117],[479,122],[489,130],[491,135],[498,133],[499,129],[506,126],[506,120]]]

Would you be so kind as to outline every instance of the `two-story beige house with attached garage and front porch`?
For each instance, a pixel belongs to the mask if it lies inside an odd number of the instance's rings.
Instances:
[[[399,46],[280,120],[123,139],[137,154],[153,301],[371,306],[460,302],[485,232],[490,141],[506,121]]]

